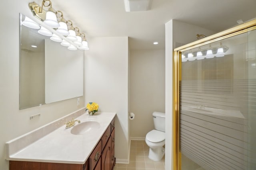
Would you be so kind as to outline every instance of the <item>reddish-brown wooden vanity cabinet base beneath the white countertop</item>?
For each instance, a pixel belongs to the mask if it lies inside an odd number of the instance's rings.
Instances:
[[[112,170],[114,157],[114,119],[84,164],[30,162],[10,160],[9,170]]]

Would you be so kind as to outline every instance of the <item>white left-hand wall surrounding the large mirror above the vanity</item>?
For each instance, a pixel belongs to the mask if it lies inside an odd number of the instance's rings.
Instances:
[[[19,12],[30,16],[28,8],[31,0],[10,0],[0,6],[0,22],[4,24],[0,31],[0,169],[8,170],[9,162],[5,160],[4,144],[24,133],[32,131],[46,123],[63,117],[84,107],[84,97],[80,98],[80,106],[76,106],[76,98],[46,104],[39,107],[19,110],[20,80],[20,16]],[[35,0],[38,4],[40,0]],[[41,113],[40,118],[30,120],[30,115]]]

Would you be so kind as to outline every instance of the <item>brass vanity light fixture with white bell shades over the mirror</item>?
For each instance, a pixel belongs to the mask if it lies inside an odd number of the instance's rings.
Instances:
[[[52,41],[61,42],[61,45],[68,47],[70,50],[89,49],[85,34],[80,33],[78,27],[73,26],[72,21],[65,20],[61,11],[54,10],[51,0],[42,0],[42,6],[35,2],[29,3],[29,8],[33,15],[42,21],[38,33],[52,36],[50,37]],[[48,10],[46,10],[47,8]]]

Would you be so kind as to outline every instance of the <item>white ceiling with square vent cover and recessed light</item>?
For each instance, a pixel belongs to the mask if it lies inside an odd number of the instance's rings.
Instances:
[[[52,7],[86,33],[89,46],[91,37],[128,36],[130,49],[164,49],[172,19],[217,33],[256,18],[256,0],[152,0],[144,12],[125,12],[124,0],[52,0]]]

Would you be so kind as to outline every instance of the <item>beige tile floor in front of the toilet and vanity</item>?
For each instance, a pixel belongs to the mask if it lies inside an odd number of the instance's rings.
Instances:
[[[145,141],[131,141],[130,163],[117,164],[114,170],[164,170],[164,158],[155,162],[148,158],[149,148]]]

